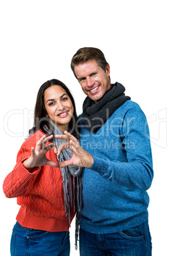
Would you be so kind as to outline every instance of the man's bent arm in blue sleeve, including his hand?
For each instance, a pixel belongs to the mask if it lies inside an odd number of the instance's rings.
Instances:
[[[58,155],[63,148],[70,148],[73,155],[71,159],[60,163],[60,167],[69,165],[86,167],[117,185],[148,190],[154,171],[147,119],[140,108],[133,108],[126,113],[124,123],[127,123],[127,120],[131,120],[130,125],[128,127],[122,125],[122,146],[127,162],[93,157],[79,145],[74,136],[65,131],[65,135],[56,135],[56,138],[67,141],[58,148]]]

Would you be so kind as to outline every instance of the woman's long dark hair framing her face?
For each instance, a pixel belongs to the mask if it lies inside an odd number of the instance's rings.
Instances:
[[[53,133],[53,127],[49,122],[49,117],[46,117],[47,113],[44,107],[44,91],[52,85],[59,85],[60,87],[62,87],[67,92],[67,95],[70,97],[70,100],[72,101],[74,113],[72,119],[69,122],[69,132],[76,136],[75,124],[77,123],[77,113],[75,110],[74,98],[72,97],[69,88],[60,80],[56,79],[48,80],[47,82],[43,83],[43,85],[41,85],[37,93],[36,106],[34,109],[34,126],[32,127],[32,129],[29,130],[29,134],[32,134],[38,131],[39,129],[41,129],[41,131],[44,132],[46,135]]]

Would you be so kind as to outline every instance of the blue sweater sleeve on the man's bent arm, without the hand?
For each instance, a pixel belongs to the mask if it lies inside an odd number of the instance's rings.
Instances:
[[[154,176],[147,119],[140,108],[133,108],[126,113],[125,124],[127,120],[131,122],[122,126],[122,146],[128,162],[94,157],[90,169],[117,185],[147,190]]]

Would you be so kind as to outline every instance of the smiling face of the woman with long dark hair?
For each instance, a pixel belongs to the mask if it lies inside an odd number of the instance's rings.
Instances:
[[[67,92],[60,85],[52,85],[44,91],[44,106],[46,117],[49,117],[60,131],[68,131],[74,107]]]

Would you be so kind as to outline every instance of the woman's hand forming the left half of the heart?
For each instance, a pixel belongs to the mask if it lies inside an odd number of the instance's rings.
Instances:
[[[57,148],[53,143],[50,143],[49,145],[46,145],[48,141],[50,141],[53,138],[53,135],[46,137],[46,135],[42,136],[39,141],[37,141],[36,149],[33,147],[31,148],[31,155],[30,157],[23,162],[23,166],[26,169],[32,169],[33,167],[39,167],[39,166],[53,166],[53,167],[59,167],[59,164],[57,162],[53,162],[46,158],[46,152],[48,150],[53,150],[55,153],[57,153]]]

